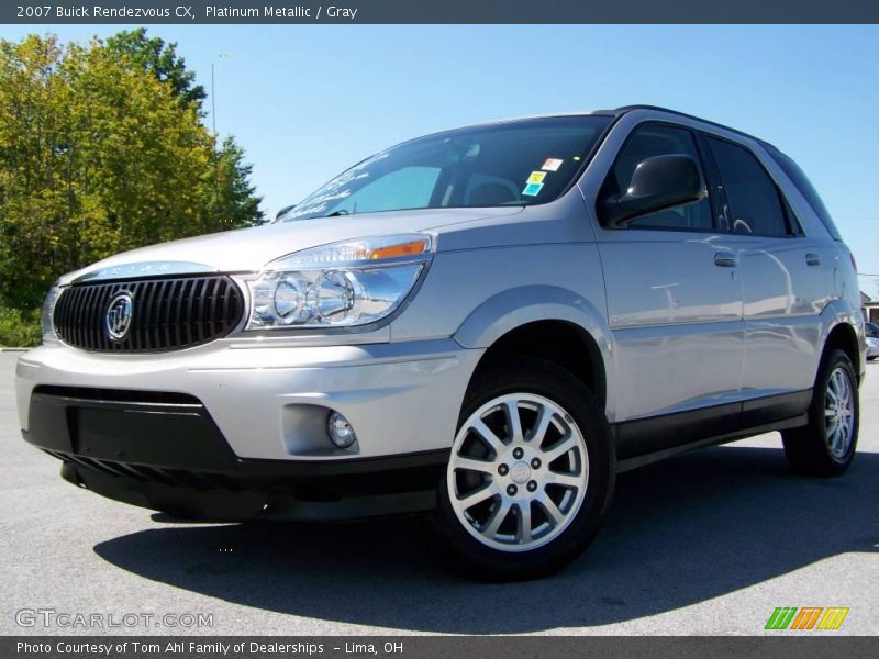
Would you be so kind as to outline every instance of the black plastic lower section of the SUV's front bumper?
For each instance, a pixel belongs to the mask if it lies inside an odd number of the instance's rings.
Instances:
[[[113,400],[109,400],[113,399]],[[38,387],[24,438],[110,499],[210,520],[329,520],[433,506],[448,453],[242,460],[191,396]]]

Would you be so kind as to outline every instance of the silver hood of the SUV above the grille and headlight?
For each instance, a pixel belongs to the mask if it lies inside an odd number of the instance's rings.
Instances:
[[[374,235],[418,231],[442,233],[444,226],[515,215],[522,210],[522,206],[425,209],[266,224],[123,252],[65,275],[60,283],[69,283],[79,277],[96,277],[99,273],[124,279],[175,271],[258,271],[276,258],[309,247]]]

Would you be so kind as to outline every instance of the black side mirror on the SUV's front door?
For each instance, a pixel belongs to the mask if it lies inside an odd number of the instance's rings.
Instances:
[[[638,163],[625,192],[604,200],[602,222],[625,228],[638,215],[699,201],[704,196],[699,167],[690,156],[654,156]]]

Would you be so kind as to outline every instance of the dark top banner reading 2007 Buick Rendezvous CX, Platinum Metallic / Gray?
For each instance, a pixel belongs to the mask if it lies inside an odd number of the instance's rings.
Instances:
[[[71,23],[879,23],[877,0],[4,0],[0,22]]]

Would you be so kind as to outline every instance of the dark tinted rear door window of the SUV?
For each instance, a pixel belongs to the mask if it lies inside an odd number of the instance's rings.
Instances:
[[[746,148],[708,138],[726,190],[730,230],[759,236],[789,235],[785,209],[772,179]]]

